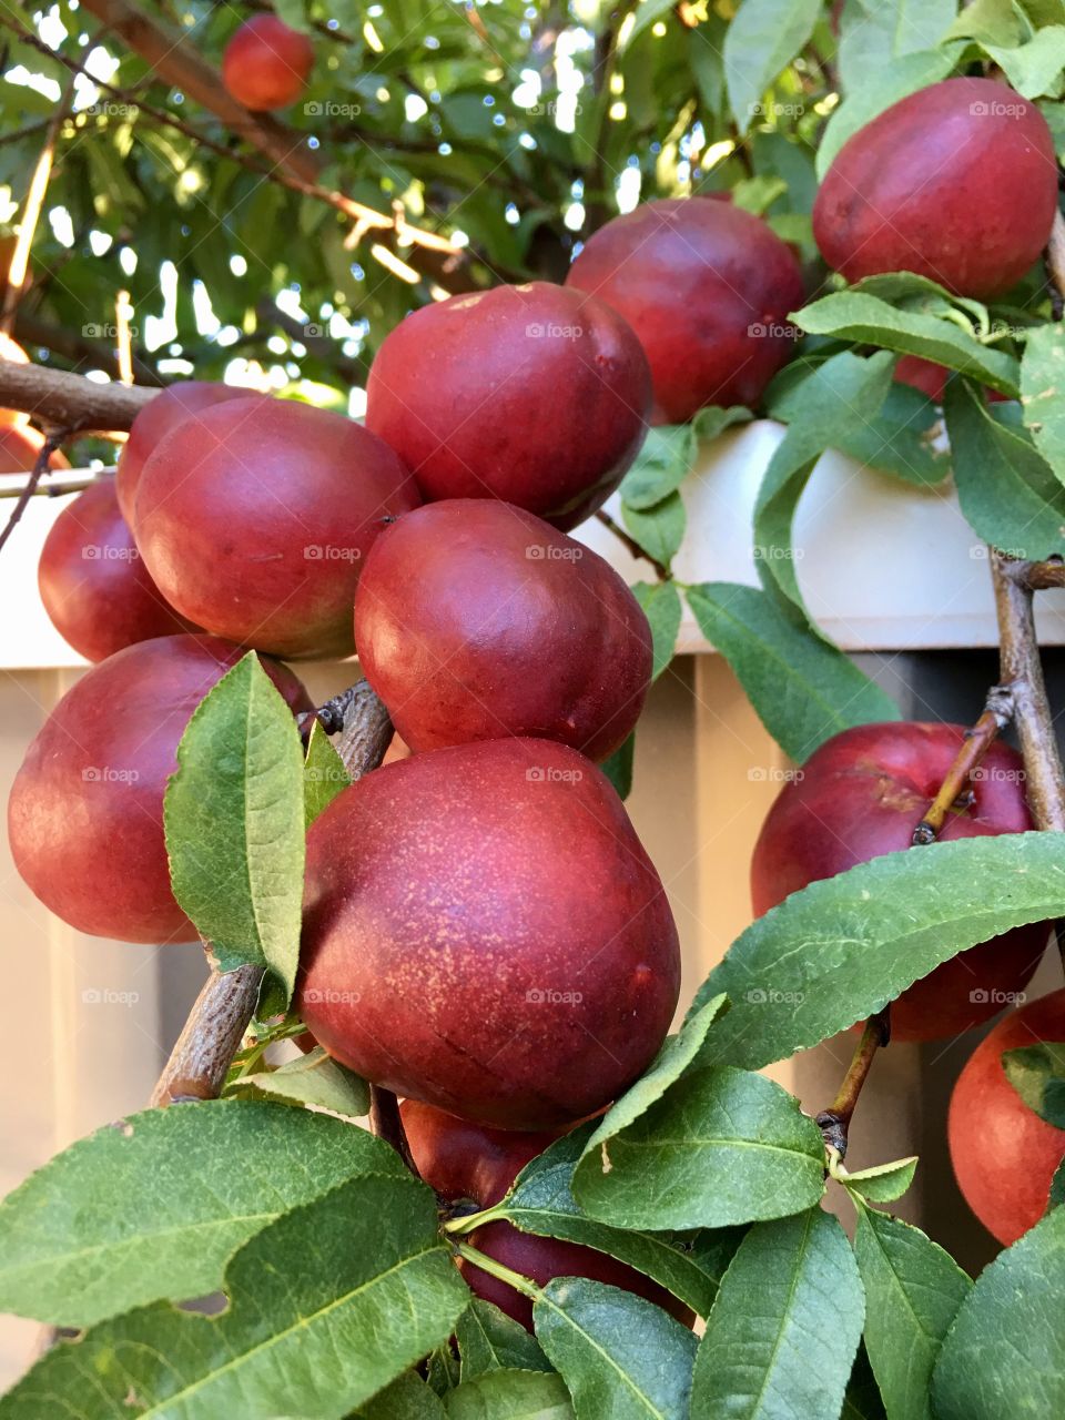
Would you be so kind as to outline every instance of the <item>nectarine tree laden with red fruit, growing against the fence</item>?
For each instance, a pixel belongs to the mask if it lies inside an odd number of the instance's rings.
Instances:
[[[14,780],[16,869],[53,956],[209,964],[151,1108],[0,1207],[0,1306],[77,1333],[0,1420],[1065,1414],[1058,11],[0,18],[0,547],[78,493],[40,582],[102,657]],[[721,437],[736,481],[696,470]],[[927,537],[927,581],[990,569],[1001,640],[966,724],[826,633],[792,524],[829,449],[914,541],[957,497],[973,555]],[[741,582],[693,581],[709,517]],[[792,765],[701,985],[673,909],[720,936],[755,821],[690,845],[696,913],[633,761],[696,636]],[[271,659],[352,652],[317,709]],[[834,1098],[767,1074],[821,1045]],[[976,1281],[946,1170],[902,1204],[934,1237],[892,1216],[885,1049],[936,1085],[970,1056],[919,1105],[1004,1244]]]

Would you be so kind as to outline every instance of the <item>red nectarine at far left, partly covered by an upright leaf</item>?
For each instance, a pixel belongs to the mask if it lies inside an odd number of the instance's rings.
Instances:
[[[163,843],[163,791],[196,706],[244,653],[214,636],[160,636],[119,650],[67,692],[27,750],[7,819],[28,888],[78,932],[187,941]],[[263,669],[294,710],[307,694]]]

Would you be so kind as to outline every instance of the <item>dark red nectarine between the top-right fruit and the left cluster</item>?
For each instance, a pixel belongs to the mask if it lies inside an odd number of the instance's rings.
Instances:
[[[713,197],[648,202],[615,217],[574,261],[567,285],[602,297],[640,338],[657,425],[704,405],[757,405],[788,358],[802,275],[758,217]]]

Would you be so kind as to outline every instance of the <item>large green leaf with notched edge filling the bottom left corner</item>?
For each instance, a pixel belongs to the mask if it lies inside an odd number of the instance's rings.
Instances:
[[[469,1301],[430,1190],[373,1174],[246,1242],[226,1294],[217,1316],[160,1302],[101,1322],[50,1350],[0,1416],[40,1420],[65,1399],[84,1420],[126,1420],[135,1397],[169,1420],[342,1420],[446,1340]]]

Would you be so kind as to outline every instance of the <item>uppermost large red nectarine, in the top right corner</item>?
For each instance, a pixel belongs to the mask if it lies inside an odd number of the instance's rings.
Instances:
[[[1001,295],[1049,236],[1058,166],[1034,104],[993,80],[944,80],[843,143],[814,203],[814,239],[848,281],[916,271]]]

